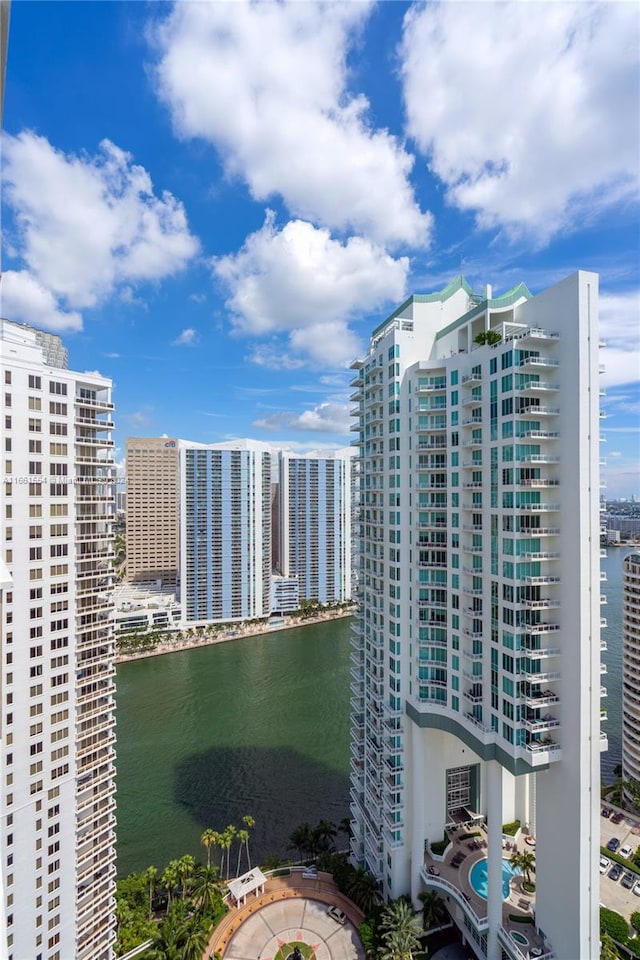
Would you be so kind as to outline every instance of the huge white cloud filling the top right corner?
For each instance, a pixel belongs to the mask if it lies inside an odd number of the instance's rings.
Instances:
[[[409,134],[451,203],[545,241],[638,189],[633,3],[412,7]]]

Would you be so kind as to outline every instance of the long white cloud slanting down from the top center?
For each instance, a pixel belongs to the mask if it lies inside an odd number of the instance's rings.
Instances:
[[[347,88],[370,3],[178,3],[155,31],[176,131],[219,151],[256,200],[377,242],[428,242],[413,157]]]

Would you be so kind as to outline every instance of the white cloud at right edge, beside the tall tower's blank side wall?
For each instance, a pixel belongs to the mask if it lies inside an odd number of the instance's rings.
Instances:
[[[640,380],[640,290],[600,297],[603,387]]]

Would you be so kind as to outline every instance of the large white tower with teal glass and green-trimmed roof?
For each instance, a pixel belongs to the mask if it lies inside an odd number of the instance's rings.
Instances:
[[[599,955],[597,317],[593,274],[498,298],[459,278],[410,297],[353,364],[352,853],[387,896],[436,890],[489,960],[523,956],[502,889],[516,819],[535,837],[536,949]],[[455,845],[431,844],[465,822],[484,849],[456,869]]]

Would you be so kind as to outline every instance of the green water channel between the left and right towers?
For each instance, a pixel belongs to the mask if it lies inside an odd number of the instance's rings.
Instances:
[[[118,667],[119,876],[204,859],[203,830],[246,813],[253,862],[293,856],[305,820],[348,816],[349,624]]]

